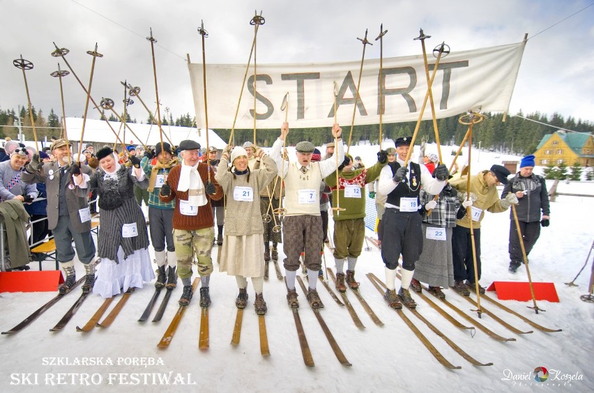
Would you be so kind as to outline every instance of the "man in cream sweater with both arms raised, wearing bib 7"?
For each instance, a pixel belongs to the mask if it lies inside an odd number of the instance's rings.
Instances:
[[[340,138],[342,130],[335,124],[332,134],[338,140],[338,162],[344,161],[344,148]],[[295,277],[300,266],[301,252],[305,252],[305,267],[310,290],[307,300],[314,308],[321,307],[316,291],[318,271],[321,268],[320,249],[323,247],[323,232],[320,216],[320,184],[323,178],[336,170],[336,160],[311,162],[315,146],[309,141],[296,146],[297,162],[283,164],[280,150],[289,133],[289,123],[283,123],[280,137],[274,142],[271,158],[275,161],[280,176],[284,179],[284,207],[287,213],[282,223],[285,256],[284,269],[287,274],[287,302],[289,307],[298,308]]]

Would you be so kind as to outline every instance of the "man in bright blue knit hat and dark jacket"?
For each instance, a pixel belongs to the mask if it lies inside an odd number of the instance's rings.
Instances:
[[[520,170],[503,187],[501,198],[505,198],[510,192],[516,194],[518,204],[516,213],[521,233],[522,242],[524,242],[524,251],[526,256],[531,252],[532,247],[540,236],[540,226],[549,226],[551,210],[549,209],[549,192],[545,178],[533,174],[534,155],[526,155],[520,161]],[[542,212],[542,216],[541,216]],[[521,253],[521,245],[517,232],[517,227],[513,212],[510,212],[510,272],[516,270],[524,262],[524,255]]]

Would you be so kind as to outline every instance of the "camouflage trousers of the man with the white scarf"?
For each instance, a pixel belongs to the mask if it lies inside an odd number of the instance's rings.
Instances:
[[[198,275],[209,276],[213,272],[213,260],[211,250],[213,249],[213,238],[215,229],[197,229],[196,231],[184,231],[174,229],[175,255],[177,258],[177,274],[179,278],[192,277],[192,261],[194,256],[198,260]]]

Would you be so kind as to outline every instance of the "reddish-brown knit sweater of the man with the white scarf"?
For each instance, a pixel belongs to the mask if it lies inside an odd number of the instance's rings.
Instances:
[[[207,167],[208,165],[204,162],[200,162],[198,164],[198,173],[200,174],[202,183],[204,183],[204,187],[206,187],[206,183],[208,183]],[[211,183],[215,185],[216,192],[213,195],[207,195],[206,205],[200,206],[198,208],[197,215],[183,215],[179,211],[179,201],[188,201],[188,192],[181,192],[177,190],[180,173],[181,165],[178,165],[177,167],[174,167],[171,171],[169,171],[169,176],[167,176],[167,184],[169,185],[169,187],[171,187],[172,192],[168,196],[159,195],[159,199],[163,202],[170,202],[173,199],[176,199],[173,218],[174,229],[182,229],[184,231],[195,231],[197,229],[205,229],[214,226],[215,220],[213,217],[211,199],[213,201],[218,201],[223,196],[222,187],[219,185],[217,180],[215,180],[214,173],[211,172]]]

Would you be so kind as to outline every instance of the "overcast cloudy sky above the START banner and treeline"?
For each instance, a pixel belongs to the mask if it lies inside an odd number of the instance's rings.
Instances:
[[[383,56],[421,53],[413,38],[422,28],[432,36],[427,48],[445,41],[452,51],[516,43],[528,33],[510,112],[558,111],[594,121],[594,6],[556,24],[593,3],[592,0],[0,0],[0,107],[26,105],[22,71],[13,66],[20,54],[33,63],[26,72],[31,102],[45,116],[53,108],[61,116],[59,81],[50,73],[66,64],[50,56],[52,41],[70,49],[67,60],[85,85],[92,57],[86,51],[98,43],[91,95],[98,102],[112,98],[123,109],[123,86],[139,86],[141,98],[155,109],[155,82],[149,28],[155,45],[162,113],[169,107],[174,118],[194,116],[190,77],[185,56],[201,63],[200,21],[209,33],[206,63],[248,61],[254,28],[250,20],[261,10],[266,23],[257,36],[257,62],[317,63],[360,61],[356,40],[369,29],[368,39],[388,30]],[[113,22],[112,22],[113,21]],[[114,23],[115,22],[115,23]],[[535,36],[532,38],[532,36]],[[379,59],[379,45],[367,47],[366,59]],[[208,77],[208,75],[207,75]],[[63,79],[66,116],[82,116],[86,95],[72,75]],[[236,97],[231,97],[236,100]],[[136,100],[129,107],[138,121],[148,113]],[[89,116],[98,118],[89,107]],[[229,114],[234,116],[234,114]]]

